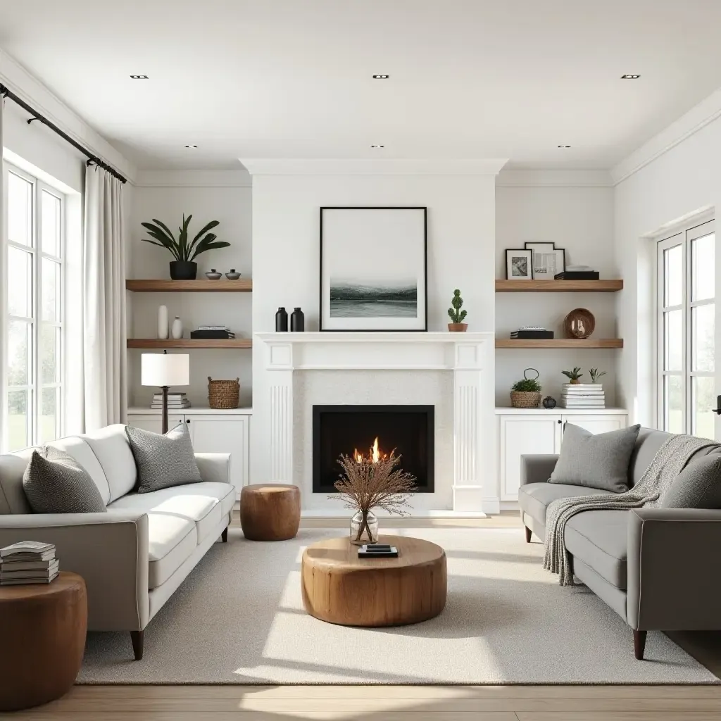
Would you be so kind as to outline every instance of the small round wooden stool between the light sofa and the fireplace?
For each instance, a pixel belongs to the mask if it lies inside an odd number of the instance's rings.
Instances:
[[[288,483],[257,483],[240,492],[240,525],[249,541],[287,541],[301,523],[301,490]]]

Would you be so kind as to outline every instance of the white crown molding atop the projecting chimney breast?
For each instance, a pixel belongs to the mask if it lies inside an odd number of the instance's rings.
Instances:
[[[251,175],[496,175],[508,159],[241,158],[240,162]]]

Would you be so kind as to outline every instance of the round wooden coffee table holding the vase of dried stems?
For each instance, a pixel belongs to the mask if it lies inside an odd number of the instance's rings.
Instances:
[[[380,536],[397,558],[358,558],[348,536],[305,549],[301,585],[311,616],[343,626],[400,626],[446,606],[446,552],[430,541]]]

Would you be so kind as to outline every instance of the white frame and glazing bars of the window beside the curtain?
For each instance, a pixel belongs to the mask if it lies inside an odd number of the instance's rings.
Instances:
[[[26,172],[14,164],[6,161],[2,162],[3,173],[3,227],[0,229],[0,267],[2,269],[1,278],[3,291],[0,297],[1,322],[0,348],[2,353],[0,356],[0,390],[2,399],[0,403],[0,418],[2,420],[2,433],[0,434],[0,451],[7,452],[8,448],[8,418],[9,418],[9,393],[12,391],[30,392],[30,415],[32,416],[28,423],[28,441],[30,446],[35,446],[41,442],[40,439],[40,420],[43,410],[43,390],[53,388],[56,390],[56,432],[55,437],[60,438],[65,429],[65,350],[66,350],[66,319],[65,319],[65,293],[66,293],[66,195],[52,185],[43,182],[40,178]],[[22,178],[32,185],[32,212],[31,212],[31,238],[30,244],[14,242],[9,239],[9,174],[14,174]],[[60,255],[52,255],[43,249],[43,193],[57,198],[60,202],[60,217],[58,218],[58,246]],[[26,252],[31,258],[31,278],[32,291],[30,291],[30,299],[32,304],[32,315],[27,316],[11,316],[9,314],[9,249],[17,248],[22,252]],[[56,309],[57,317],[54,321],[43,319],[43,259],[58,263],[58,283],[56,284]],[[31,377],[30,383],[23,386],[9,386],[9,367],[7,358],[9,323],[12,321],[25,322],[32,328],[32,359],[29,364]],[[56,379],[52,382],[44,381],[42,377],[41,358],[41,339],[43,327],[52,326],[60,330],[60,340],[56,346],[56,363],[57,373]],[[43,442],[53,440],[51,438],[43,438]],[[16,448],[12,449],[18,450]]]

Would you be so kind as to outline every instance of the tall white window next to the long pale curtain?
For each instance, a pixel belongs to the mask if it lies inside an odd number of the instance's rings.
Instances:
[[[3,451],[63,430],[63,195],[4,164]]]

